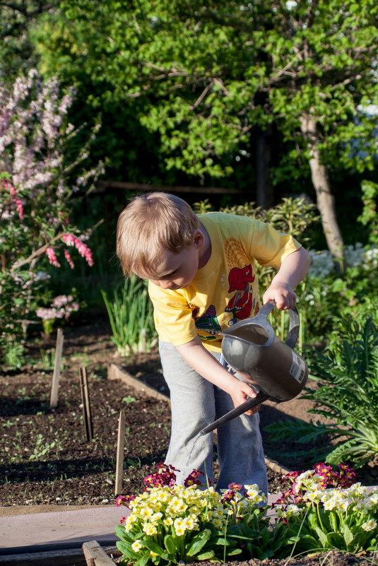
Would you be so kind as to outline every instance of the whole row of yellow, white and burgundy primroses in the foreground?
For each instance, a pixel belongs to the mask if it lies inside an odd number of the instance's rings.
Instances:
[[[374,552],[378,536],[378,488],[353,483],[345,464],[325,464],[283,477],[285,490],[273,504],[256,485],[229,485],[217,493],[193,471],[184,486],[175,468],[159,464],[145,478],[141,495],[120,496],[131,510],[116,527],[124,563],[137,566],[215,560],[225,562],[341,550]]]

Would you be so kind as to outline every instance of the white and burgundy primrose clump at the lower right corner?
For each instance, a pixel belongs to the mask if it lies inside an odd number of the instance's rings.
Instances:
[[[349,477],[353,470],[338,464]],[[346,475],[345,474],[345,475]],[[291,472],[283,478],[285,491],[275,504],[278,517],[287,525],[288,550],[295,554],[336,548],[349,553],[375,550],[377,545],[378,493],[353,480],[335,481],[338,472],[324,463],[303,473]],[[291,483],[291,485],[287,485]]]

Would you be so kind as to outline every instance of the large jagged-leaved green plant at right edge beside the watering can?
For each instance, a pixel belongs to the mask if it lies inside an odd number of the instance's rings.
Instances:
[[[341,319],[326,354],[317,353],[307,360],[317,388],[307,388],[303,399],[316,403],[309,413],[330,422],[304,425],[298,420],[281,421],[266,430],[272,433],[271,440],[290,437],[313,444],[327,435],[333,442],[316,450],[318,456],[325,456],[330,464],[343,460],[362,466],[378,454],[377,324],[371,318],[366,320],[365,314]]]

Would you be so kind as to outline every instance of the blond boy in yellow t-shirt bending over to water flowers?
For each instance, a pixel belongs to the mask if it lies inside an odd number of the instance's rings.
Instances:
[[[199,432],[256,392],[221,353],[218,331],[259,311],[254,260],[278,269],[263,303],[295,305],[309,254],[293,237],[245,216],[196,216],[179,197],[155,192],[131,199],[117,223],[117,255],[126,274],[148,279],[163,373],[170,388],[172,432],[165,460],[213,480],[213,435]],[[236,375],[235,375],[236,374]],[[218,429],[216,489],[256,483],[267,494],[258,408]]]

